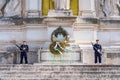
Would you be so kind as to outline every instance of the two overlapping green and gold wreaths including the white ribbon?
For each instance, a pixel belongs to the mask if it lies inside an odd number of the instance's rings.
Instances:
[[[50,52],[59,55],[63,54],[69,42],[69,34],[60,26],[51,34]]]

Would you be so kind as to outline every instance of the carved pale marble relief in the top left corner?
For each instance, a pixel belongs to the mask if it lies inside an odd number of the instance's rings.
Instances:
[[[20,16],[21,0],[0,0],[0,16]]]

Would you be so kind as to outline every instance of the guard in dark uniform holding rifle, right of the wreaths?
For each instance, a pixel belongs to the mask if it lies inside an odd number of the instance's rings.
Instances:
[[[99,61],[99,63],[101,63],[102,47],[101,47],[101,45],[98,42],[99,42],[99,40],[96,40],[96,44],[93,45],[94,56],[95,56],[95,63],[97,63],[98,61]]]

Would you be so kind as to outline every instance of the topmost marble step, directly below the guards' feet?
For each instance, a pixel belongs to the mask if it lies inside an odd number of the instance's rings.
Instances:
[[[44,68],[44,69],[43,69]],[[109,71],[109,70],[120,70],[119,65],[16,65],[16,66],[8,66],[8,65],[0,65],[0,70],[29,70],[29,69],[37,69],[37,70],[55,70],[55,69],[65,69],[65,70],[99,70],[99,71]]]

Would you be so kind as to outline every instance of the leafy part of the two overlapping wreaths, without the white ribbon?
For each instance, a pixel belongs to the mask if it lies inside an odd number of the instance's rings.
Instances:
[[[65,39],[64,40],[57,40],[56,38],[58,35],[62,35]],[[54,49],[56,42],[59,42],[60,46],[62,48],[65,48],[68,45],[69,42],[69,34],[60,26],[56,30],[53,31],[51,34],[51,44],[50,44],[50,52],[55,55],[59,55],[60,52],[64,53],[64,50],[61,49],[59,46],[57,46],[57,49],[60,51],[57,51]]]

